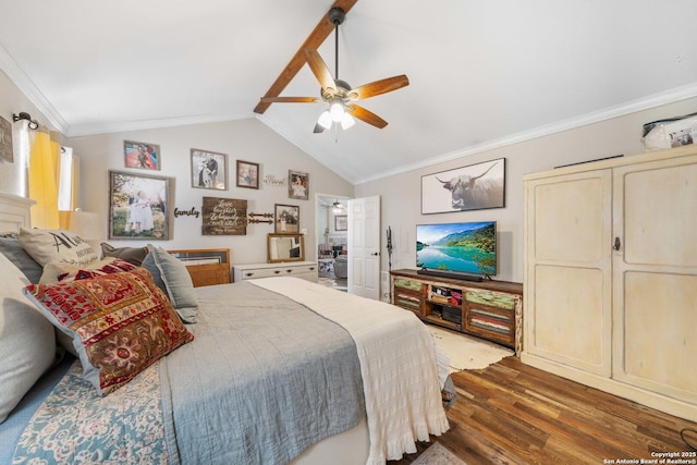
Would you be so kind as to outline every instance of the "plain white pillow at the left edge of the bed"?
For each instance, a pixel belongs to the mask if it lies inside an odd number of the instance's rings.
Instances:
[[[24,296],[24,273],[0,254],[0,423],[56,357],[53,326]]]

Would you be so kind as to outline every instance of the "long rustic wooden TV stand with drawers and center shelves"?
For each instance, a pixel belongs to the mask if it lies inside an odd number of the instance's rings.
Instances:
[[[392,303],[421,320],[522,351],[522,283],[463,281],[409,269],[390,271],[390,278]]]

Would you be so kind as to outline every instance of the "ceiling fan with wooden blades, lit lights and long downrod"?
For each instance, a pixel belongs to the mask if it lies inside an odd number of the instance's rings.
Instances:
[[[382,129],[388,125],[388,122],[378,117],[374,112],[355,105],[358,100],[364,100],[370,97],[386,94],[392,90],[400,89],[409,84],[406,75],[392,76],[384,79],[375,81],[372,83],[364,84],[362,86],[352,88],[348,83],[339,78],[339,25],[344,22],[346,13],[339,7],[332,8],[328,15],[329,22],[334,25],[335,33],[335,72],[332,77],[329,68],[325,64],[325,61],[320,57],[319,52],[315,49],[303,48],[302,52],[305,57],[307,64],[309,65],[313,74],[321,86],[320,95],[318,97],[280,97],[280,96],[265,96],[261,97],[261,103],[314,103],[314,102],[327,102],[329,103],[329,110],[326,110],[319,117],[317,124],[315,124],[315,133],[321,133],[325,130],[331,127],[332,123],[341,124],[342,129],[351,127],[355,122],[352,117],[357,118],[368,124],[371,124],[378,129]],[[261,105],[260,103],[260,105]]]

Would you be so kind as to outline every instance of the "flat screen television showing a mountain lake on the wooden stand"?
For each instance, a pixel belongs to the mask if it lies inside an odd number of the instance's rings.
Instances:
[[[497,274],[496,221],[416,225],[416,266],[425,274],[481,281]]]

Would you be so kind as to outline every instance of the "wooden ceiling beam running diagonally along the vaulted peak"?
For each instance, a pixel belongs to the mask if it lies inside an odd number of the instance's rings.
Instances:
[[[348,13],[348,10],[356,4],[358,0],[335,0],[331,8],[340,8],[344,11],[344,13]],[[330,8],[330,10],[331,10]],[[313,50],[317,50],[319,46],[322,45],[327,37],[334,30],[334,25],[330,23],[328,19],[328,13],[325,13],[319,23],[315,27],[315,29],[310,33],[309,37],[305,39],[301,48],[295,52],[291,62],[281,71],[279,77],[271,84],[269,90],[264,95],[264,97],[278,97],[281,95],[285,86],[295,77],[295,75],[301,71],[303,65],[307,62],[305,59],[305,53],[303,53],[303,49],[309,48]],[[255,107],[255,113],[264,113],[269,107],[271,102],[259,101],[259,103]]]

